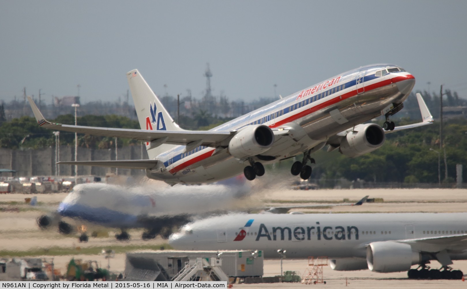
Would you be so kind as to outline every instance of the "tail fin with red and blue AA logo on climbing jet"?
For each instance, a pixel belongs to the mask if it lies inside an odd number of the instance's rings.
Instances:
[[[184,131],[172,119],[162,102],[149,87],[137,69],[127,72],[128,85],[133,96],[134,108],[142,130]],[[162,144],[162,145],[161,145]],[[170,149],[174,145],[164,145],[163,140],[154,140],[153,144],[146,143],[149,159]]]

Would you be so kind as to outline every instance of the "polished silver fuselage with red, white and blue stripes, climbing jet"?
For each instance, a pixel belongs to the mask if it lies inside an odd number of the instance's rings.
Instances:
[[[262,160],[262,163],[274,163],[295,156],[319,147],[339,132],[381,116],[382,110],[393,104],[402,103],[410,94],[415,78],[402,69],[381,77],[375,76],[375,72],[386,67],[396,66],[369,65],[342,73],[212,131],[234,131],[252,124],[292,129],[295,135],[276,137],[267,152],[274,159]],[[330,82],[333,85],[325,87]],[[221,147],[203,147],[196,152],[186,152],[184,146],[176,146],[160,154],[157,159],[164,163],[165,169],[147,170],[147,176],[173,183],[226,179],[242,173],[245,163],[248,163],[233,158],[227,148]]]

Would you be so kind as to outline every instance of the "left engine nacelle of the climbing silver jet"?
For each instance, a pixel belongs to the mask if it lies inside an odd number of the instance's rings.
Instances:
[[[269,150],[274,133],[266,125],[248,125],[239,130],[229,142],[229,152],[237,159],[252,157]]]

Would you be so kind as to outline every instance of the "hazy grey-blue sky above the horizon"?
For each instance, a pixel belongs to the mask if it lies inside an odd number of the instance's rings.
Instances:
[[[392,63],[467,98],[467,1],[0,1],[0,100],[116,101],[137,68],[156,94],[251,100]],[[167,88],[164,88],[164,84]]]

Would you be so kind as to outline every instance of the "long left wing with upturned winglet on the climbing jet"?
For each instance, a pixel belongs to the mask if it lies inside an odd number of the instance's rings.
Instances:
[[[51,130],[63,130],[70,132],[78,132],[84,134],[92,134],[104,137],[127,137],[140,141],[151,142],[160,139],[165,144],[171,145],[189,145],[196,143],[196,145],[204,146],[217,146],[222,141],[228,139],[235,132],[230,131],[165,131],[165,130],[134,130],[134,129],[114,129],[114,128],[101,128],[89,127],[80,125],[67,125],[60,123],[50,123],[47,121],[39,108],[35,105],[31,97],[28,96],[29,105],[32,108],[37,123],[45,128]]]

